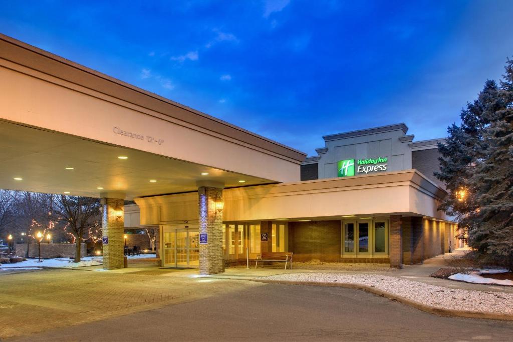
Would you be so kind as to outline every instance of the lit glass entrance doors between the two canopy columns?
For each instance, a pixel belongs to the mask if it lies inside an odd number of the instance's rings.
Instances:
[[[162,226],[163,260],[162,266],[167,267],[199,267],[200,266],[200,232],[192,225]]]

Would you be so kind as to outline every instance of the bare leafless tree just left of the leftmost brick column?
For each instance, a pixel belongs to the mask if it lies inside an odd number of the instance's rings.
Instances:
[[[91,197],[58,195],[53,200],[52,212],[62,223],[67,224],[66,231],[75,238],[75,263],[80,263],[81,244],[85,233],[97,225],[95,217],[100,211],[100,200]]]

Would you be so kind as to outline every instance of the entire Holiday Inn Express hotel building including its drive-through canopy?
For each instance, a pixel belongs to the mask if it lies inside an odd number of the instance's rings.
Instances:
[[[201,274],[259,254],[401,268],[444,253],[456,227],[438,210],[436,141],[406,132],[330,135],[306,158],[0,35],[0,188],[101,198],[109,270],[125,226],[159,227],[162,265]]]

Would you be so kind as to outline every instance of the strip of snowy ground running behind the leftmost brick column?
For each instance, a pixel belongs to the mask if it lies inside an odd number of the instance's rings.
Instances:
[[[144,259],[144,258],[155,258],[156,254],[141,254],[141,255],[130,255],[129,259]],[[85,266],[98,266],[103,264],[102,256],[85,256],[81,258],[80,263],[72,263],[73,259],[70,258],[52,258],[52,259],[41,259],[42,262],[38,263],[37,258],[28,258],[21,263],[15,264],[2,264],[0,270],[4,269],[34,269],[35,267],[85,267]]]

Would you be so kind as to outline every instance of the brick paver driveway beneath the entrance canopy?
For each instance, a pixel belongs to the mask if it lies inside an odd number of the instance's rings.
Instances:
[[[197,270],[134,266],[0,275],[0,340],[262,286],[197,277]]]

